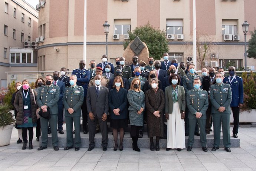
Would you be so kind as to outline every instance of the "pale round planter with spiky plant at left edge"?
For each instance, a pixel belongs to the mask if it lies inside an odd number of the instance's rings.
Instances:
[[[12,137],[13,124],[0,126],[0,146],[9,145]]]

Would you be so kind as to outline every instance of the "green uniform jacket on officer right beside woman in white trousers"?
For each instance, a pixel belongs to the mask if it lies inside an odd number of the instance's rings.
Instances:
[[[188,119],[206,119],[208,109],[208,93],[199,89],[197,95],[196,89],[187,92]],[[201,112],[201,118],[196,118],[196,112]]]

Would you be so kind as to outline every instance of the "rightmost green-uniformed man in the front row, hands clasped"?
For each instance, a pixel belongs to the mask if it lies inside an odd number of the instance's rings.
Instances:
[[[211,100],[211,112],[213,114],[213,128],[214,128],[214,144],[211,151],[219,149],[220,145],[220,124],[222,123],[222,137],[223,145],[227,152],[230,150],[230,103],[232,101],[232,92],[229,84],[223,83],[223,73],[218,72],[216,74],[216,84],[211,85],[210,88],[210,100]]]

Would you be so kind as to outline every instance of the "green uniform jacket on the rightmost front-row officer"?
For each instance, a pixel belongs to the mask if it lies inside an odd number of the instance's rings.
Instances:
[[[227,114],[231,113],[230,103],[232,101],[232,92],[229,84],[222,83],[219,86],[217,83],[211,85],[210,88],[211,112],[213,114]],[[219,112],[220,106],[225,107],[224,112]]]

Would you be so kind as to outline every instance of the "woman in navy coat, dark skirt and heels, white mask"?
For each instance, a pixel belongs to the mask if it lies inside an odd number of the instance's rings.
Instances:
[[[117,130],[120,129],[120,144],[119,150],[123,150],[124,128],[127,127],[127,90],[124,89],[121,76],[116,76],[114,79],[114,89],[110,90],[108,95],[110,127],[113,128],[113,136],[115,141],[114,151],[117,150]]]

